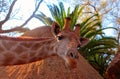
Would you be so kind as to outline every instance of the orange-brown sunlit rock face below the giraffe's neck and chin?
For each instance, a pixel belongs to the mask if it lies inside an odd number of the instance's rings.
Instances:
[[[0,67],[0,79],[103,79],[88,62],[79,55],[77,68],[69,69],[64,61],[53,56],[38,62]]]

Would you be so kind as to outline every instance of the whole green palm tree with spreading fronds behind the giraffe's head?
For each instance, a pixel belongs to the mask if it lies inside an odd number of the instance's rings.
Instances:
[[[71,29],[74,29],[74,25],[78,23],[79,17],[82,17],[84,13],[84,7],[86,5],[76,5],[74,10],[71,12],[70,7],[67,11],[64,8],[63,3],[59,5],[48,5],[48,8],[52,14],[53,20],[56,21],[61,30],[64,25],[64,20],[66,17],[71,18]],[[35,15],[40,21],[47,25],[51,25],[53,20],[47,17],[45,14],[40,12]],[[89,15],[86,19],[82,20],[80,24],[80,37],[85,37],[90,39],[90,42],[81,47],[79,51],[88,60],[88,62],[103,76],[106,68],[111,61],[112,56],[114,56],[115,48],[117,47],[117,41],[115,38],[107,37],[104,35],[103,30],[105,29],[115,29],[112,27],[102,28],[100,15],[98,13],[93,13]]]

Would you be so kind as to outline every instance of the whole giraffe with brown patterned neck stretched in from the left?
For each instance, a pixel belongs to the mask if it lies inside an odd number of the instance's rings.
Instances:
[[[27,64],[57,55],[68,67],[77,65],[79,25],[70,29],[70,18],[66,18],[64,29],[54,22],[51,27],[53,37],[4,37],[0,36],[0,66]]]

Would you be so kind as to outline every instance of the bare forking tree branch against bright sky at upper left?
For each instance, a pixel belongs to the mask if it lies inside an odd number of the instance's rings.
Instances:
[[[4,20],[0,21],[0,33],[9,33],[9,32],[13,32],[13,31],[20,31],[20,32],[25,32],[27,30],[29,30],[28,28],[23,28],[23,26],[25,26],[33,17],[34,17],[34,14],[36,13],[36,11],[38,10],[40,4],[42,3],[43,0],[40,0],[38,5],[36,6],[35,10],[33,11],[32,15],[20,26],[17,26],[15,28],[12,28],[10,30],[2,30],[2,25],[9,20],[10,18],[10,15],[12,13],[12,10],[13,10],[13,7],[15,5],[17,0],[14,0],[10,6],[10,9],[8,11],[8,14],[7,16],[5,17]]]

